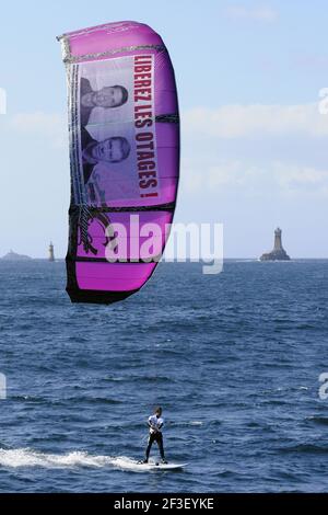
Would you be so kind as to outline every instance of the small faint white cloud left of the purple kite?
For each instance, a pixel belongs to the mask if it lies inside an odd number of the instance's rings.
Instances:
[[[50,141],[54,147],[63,147],[67,142],[66,117],[57,113],[19,113],[9,121],[10,127],[26,135],[37,135]]]

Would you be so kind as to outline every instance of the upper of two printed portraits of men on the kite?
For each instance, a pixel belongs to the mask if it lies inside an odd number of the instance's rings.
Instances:
[[[98,91],[94,91],[90,80],[81,78],[80,81],[80,113],[81,125],[89,123],[90,115],[94,107],[104,110],[119,107],[128,101],[128,90],[122,85],[105,85]]]

